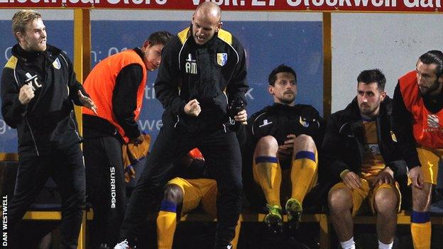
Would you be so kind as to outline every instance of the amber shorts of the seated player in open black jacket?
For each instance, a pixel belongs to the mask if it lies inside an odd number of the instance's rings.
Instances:
[[[361,204],[365,200],[369,202],[368,203],[369,207],[371,208],[372,213],[375,214],[376,208],[374,206],[374,199],[376,197],[376,193],[380,189],[393,189],[395,194],[397,194],[397,200],[398,200],[397,210],[400,211],[401,194],[400,194],[400,187],[397,182],[395,182],[395,184],[388,184],[388,183],[377,184],[374,187],[370,187],[368,180],[363,178],[360,178],[360,180],[361,180],[361,187],[359,189],[350,189],[349,187],[346,186],[346,184],[344,184],[344,182],[339,182],[335,184],[331,188],[331,190],[329,190],[332,191],[332,189],[341,189],[341,188],[348,189],[348,191],[351,193],[352,196],[352,204],[353,204],[352,216],[355,216],[358,213]]]

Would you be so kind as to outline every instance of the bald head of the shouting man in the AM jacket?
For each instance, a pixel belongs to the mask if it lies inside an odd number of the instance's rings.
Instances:
[[[205,1],[199,4],[192,15],[192,36],[195,43],[203,45],[222,28],[222,11],[217,4]]]

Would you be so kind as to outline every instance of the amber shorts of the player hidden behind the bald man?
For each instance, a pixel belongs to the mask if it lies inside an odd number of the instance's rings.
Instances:
[[[182,215],[202,209],[214,218],[217,217],[217,182],[214,179],[183,179],[175,177],[168,184],[175,184],[183,191]]]

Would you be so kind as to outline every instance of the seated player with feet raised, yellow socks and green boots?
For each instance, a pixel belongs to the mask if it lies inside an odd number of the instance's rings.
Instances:
[[[284,193],[290,196],[285,209],[291,226],[300,221],[302,201],[317,182],[317,145],[321,145],[322,118],[314,107],[295,104],[297,75],[291,67],[278,66],[270,72],[268,82],[274,104],[249,118],[246,150],[254,151],[253,179],[268,203],[265,223],[277,232],[283,227],[282,178],[283,192],[292,190]]]

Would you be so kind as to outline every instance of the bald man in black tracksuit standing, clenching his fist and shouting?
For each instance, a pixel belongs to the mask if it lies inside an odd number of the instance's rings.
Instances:
[[[192,25],[165,45],[155,82],[163,104],[163,127],[145,170],[138,179],[121,226],[121,243],[114,249],[133,248],[146,210],[155,210],[174,162],[199,148],[213,167],[218,185],[217,234],[214,248],[231,248],[241,211],[241,155],[239,142],[228,124],[246,124],[246,58],[244,48],[222,30],[221,10],[204,2],[192,15]],[[233,104],[234,103],[234,104]],[[243,108],[230,111],[243,103]],[[231,114],[229,116],[228,114]],[[175,220],[177,206],[162,201],[160,211]],[[163,219],[168,223],[168,218]]]

